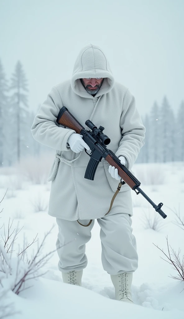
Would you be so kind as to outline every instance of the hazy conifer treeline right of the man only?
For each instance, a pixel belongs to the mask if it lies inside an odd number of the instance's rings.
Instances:
[[[154,102],[142,118],[146,128],[144,146],[136,163],[184,161],[184,101],[173,112],[166,96],[161,105]]]

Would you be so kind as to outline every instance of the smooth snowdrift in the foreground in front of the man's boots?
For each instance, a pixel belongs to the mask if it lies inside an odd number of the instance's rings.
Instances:
[[[85,273],[84,273],[85,274]],[[85,274],[86,277],[86,274]],[[98,275],[99,278],[99,275]],[[13,293],[10,298],[16,303],[16,308],[21,310],[22,314],[15,315],[14,318],[183,318],[183,312],[177,308],[170,311],[159,311],[148,309],[150,304],[158,306],[158,301],[152,297],[151,291],[147,285],[143,285],[143,291],[137,293],[139,298],[144,301],[145,307],[131,305],[128,303],[113,300],[113,291],[110,283],[105,283],[106,287],[99,292],[91,291],[93,289],[93,279],[90,280],[86,289],[79,286],[73,286],[61,283],[53,279],[41,278],[33,288],[26,290],[23,299]],[[175,293],[177,293],[175,289]],[[163,293],[163,292],[162,292]],[[161,294],[161,292],[160,292]],[[156,294],[159,297],[159,293]],[[181,302],[181,299],[180,299]],[[146,308],[147,307],[147,308]]]

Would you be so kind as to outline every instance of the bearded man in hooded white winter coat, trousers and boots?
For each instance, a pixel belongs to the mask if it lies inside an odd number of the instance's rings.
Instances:
[[[94,180],[84,178],[89,161],[84,148],[89,147],[80,134],[56,122],[63,106],[85,129],[88,119],[105,127],[104,134],[111,139],[108,148],[131,170],[145,137],[135,98],[126,86],[115,81],[103,50],[88,44],[77,56],[72,78],[52,87],[31,128],[36,141],[56,150],[48,177],[52,181],[48,214],[56,218],[59,227],[56,247],[63,282],[81,286],[88,262],[85,244],[97,219],[103,269],[110,274],[116,299],[132,303],[131,282],[138,268],[138,254],[131,227],[131,188],[127,184],[121,187],[104,216],[120,176],[117,168],[103,159]]]

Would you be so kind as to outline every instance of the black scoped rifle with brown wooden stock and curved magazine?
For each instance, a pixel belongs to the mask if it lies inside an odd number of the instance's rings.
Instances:
[[[140,189],[140,182],[138,179],[124,166],[121,164],[120,159],[109,150],[106,145],[110,143],[110,138],[103,134],[104,127],[99,126],[97,128],[90,120],[87,120],[85,124],[91,129],[85,130],[85,128],[77,121],[77,119],[68,111],[66,107],[62,107],[58,114],[56,122],[65,128],[75,130],[76,133],[82,135],[84,142],[90,147],[91,153],[88,154],[87,150],[85,152],[90,156],[88,166],[84,178],[89,180],[94,180],[96,168],[99,162],[104,158],[110,165],[118,169],[118,174],[123,179],[123,183],[127,183],[131,189],[133,189],[136,194],[142,194],[145,199],[153,206],[155,211],[157,211],[163,218],[167,215],[160,209],[163,203],[159,203],[158,206],[152,202],[152,200]],[[120,186],[121,187],[121,186]],[[120,188],[119,188],[120,189]]]

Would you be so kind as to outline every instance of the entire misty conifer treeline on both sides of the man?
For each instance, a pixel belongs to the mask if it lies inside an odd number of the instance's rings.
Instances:
[[[48,152],[46,146],[32,137],[30,130],[36,114],[29,110],[28,92],[21,62],[16,63],[8,81],[0,60],[0,167],[11,166],[29,155]],[[183,100],[175,116],[165,96],[160,106],[154,102],[142,120],[146,128],[145,145],[136,163],[184,161]]]

